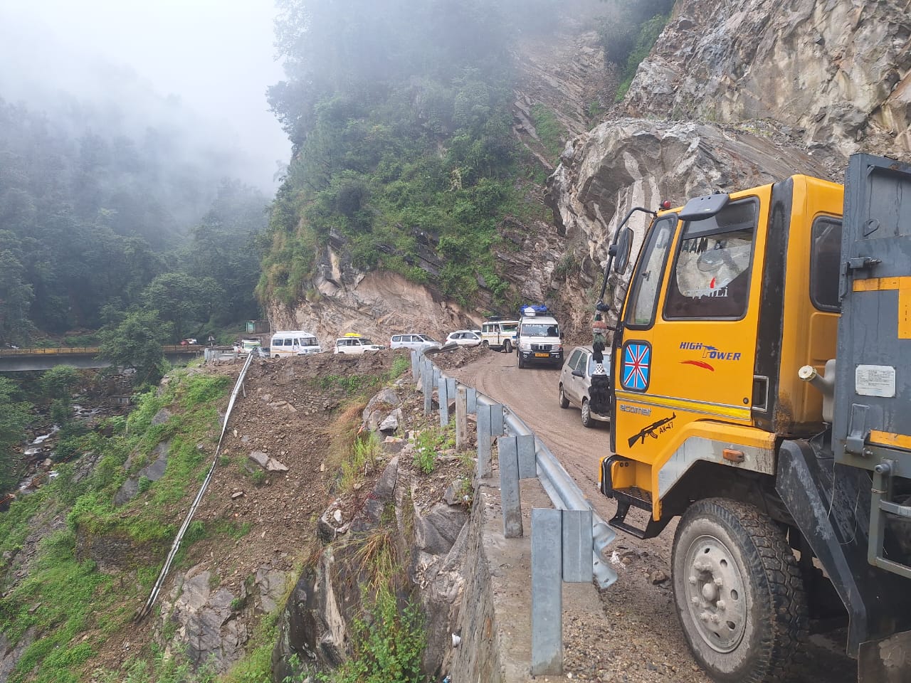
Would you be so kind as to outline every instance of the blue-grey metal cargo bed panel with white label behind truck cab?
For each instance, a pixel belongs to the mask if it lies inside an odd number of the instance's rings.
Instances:
[[[851,157],[839,296],[835,458],[873,469],[876,445],[897,448],[911,477],[911,166]]]

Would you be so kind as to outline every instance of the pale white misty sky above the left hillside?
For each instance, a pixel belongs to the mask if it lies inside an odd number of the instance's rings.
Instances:
[[[281,80],[274,15],[272,0],[0,0],[0,97],[50,109],[61,90],[103,103],[132,84],[119,104],[137,130],[189,107],[196,143],[239,148],[237,175],[271,190],[291,148],[265,99]]]

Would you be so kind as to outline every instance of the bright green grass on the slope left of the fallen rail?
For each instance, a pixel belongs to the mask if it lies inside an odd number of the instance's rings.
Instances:
[[[59,372],[57,379],[66,385],[67,373]],[[46,383],[56,386],[57,382]],[[127,581],[126,586],[121,581],[115,586],[114,579],[98,571],[92,561],[77,559],[77,533],[112,539],[128,537],[131,545],[140,549],[149,545],[165,549],[176,531],[174,520],[179,518],[179,505],[205,474],[206,456],[197,444],[214,443],[218,427],[214,402],[225,395],[229,384],[230,379],[224,376],[175,372],[160,395],[150,391],[138,396],[137,409],[127,420],[108,421],[108,428],[114,431],[111,437],[98,433],[72,437],[79,453],[92,453],[98,458],[91,474],[77,480],[74,464],[60,464],[56,479],[35,494],[15,501],[7,513],[0,515],[0,557],[25,544],[29,521],[39,512],[43,519],[67,519],[64,528],[46,536],[37,546],[28,576],[15,586],[0,586],[0,590],[7,591],[0,600],[0,631],[14,643],[31,628],[38,634],[11,673],[10,683],[77,683],[82,680],[81,665],[94,656],[101,641],[128,623],[132,615],[124,607],[124,590],[136,591],[136,597],[144,594],[154,581],[157,568],[138,566],[136,581]],[[169,419],[153,425],[153,417],[164,407],[172,412]],[[157,482],[145,480],[136,499],[115,509],[111,501],[128,475],[123,469],[128,455],[132,455],[135,472],[150,461],[155,447],[165,441],[169,441],[170,448],[164,476]],[[189,547],[206,537],[238,538],[249,529],[249,525],[231,521],[212,525],[195,522],[190,525],[185,545]],[[0,571],[9,568],[7,563],[8,560],[0,560]],[[77,638],[84,632],[91,636]],[[214,680],[205,669],[189,677],[189,668],[182,660],[169,658],[151,665],[137,660],[121,673],[127,678],[110,680]]]

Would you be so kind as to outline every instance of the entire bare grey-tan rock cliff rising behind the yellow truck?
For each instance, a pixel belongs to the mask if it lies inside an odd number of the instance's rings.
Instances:
[[[906,0],[681,0],[613,116],[548,178],[561,293],[589,320],[607,244],[634,206],[680,204],[793,173],[840,181],[855,151],[911,158]],[[644,214],[630,225],[640,247]],[[594,292],[594,293],[593,293]]]

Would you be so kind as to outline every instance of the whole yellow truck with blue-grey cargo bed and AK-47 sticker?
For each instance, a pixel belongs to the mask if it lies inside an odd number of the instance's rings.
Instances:
[[[812,619],[845,627],[860,681],[911,681],[911,166],[648,213],[616,329],[603,301],[593,325],[610,524],[679,519],[674,601],[711,678],[786,678]]]

